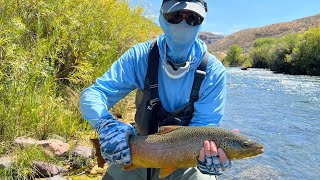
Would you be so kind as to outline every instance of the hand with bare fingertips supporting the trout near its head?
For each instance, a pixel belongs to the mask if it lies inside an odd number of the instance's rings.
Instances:
[[[203,174],[221,175],[222,171],[231,167],[226,153],[217,148],[213,141],[205,141],[198,158],[198,169]]]

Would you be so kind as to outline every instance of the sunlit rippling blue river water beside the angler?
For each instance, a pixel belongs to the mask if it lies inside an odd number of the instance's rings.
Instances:
[[[239,129],[265,153],[233,161],[219,179],[320,179],[320,77],[228,69],[220,127]]]

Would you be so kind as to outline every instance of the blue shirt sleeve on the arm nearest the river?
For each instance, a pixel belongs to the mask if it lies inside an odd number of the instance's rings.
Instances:
[[[194,103],[190,126],[218,126],[226,101],[226,69],[214,56],[207,65],[207,75],[200,87],[199,100]],[[209,59],[210,60],[210,59]]]

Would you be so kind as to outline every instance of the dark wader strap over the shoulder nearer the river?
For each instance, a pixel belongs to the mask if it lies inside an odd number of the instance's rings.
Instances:
[[[194,103],[199,99],[200,86],[202,81],[206,77],[206,67],[208,64],[208,59],[209,59],[209,53],[206,52],[206,54],[203,56],[202,61],[194,74],[192,91],[191,91],[190,100],[189,100],[189,102],[191,103]]]

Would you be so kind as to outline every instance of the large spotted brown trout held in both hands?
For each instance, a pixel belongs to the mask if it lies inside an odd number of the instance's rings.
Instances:
[[[131,165],[124,169],[160,168],[160,178],[177,168],[196,167],[205,140],[214,141],[230,160],[253,157],[263,153],[263,145],[230,130],[208,126],[164,126],[159,133],[133,136],[129,139]],[[97,139],[92,139],[100,151]],[[97,154],[99,166],[103,158]]]

